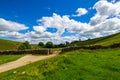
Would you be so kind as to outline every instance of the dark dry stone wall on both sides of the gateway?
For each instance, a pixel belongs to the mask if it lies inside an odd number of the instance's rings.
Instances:
[[[114,43],[112,45],[108,46],[102,46],[102,45],[93,45],[93,46],[76,46],[76,47],[65,47],[62,48],[60,53],[78,50],[78,49],[90,49],[90,50],[96,50],[96,49],[108,49],[108,48],[120,48],[120,43]],[[53,54],[54,52],[51,49],[38,49],[38,50],[6,50],[6,51],[0,51],[0,55],[9,55],[9,54],[42,54],[42,55],[49,55]]]

